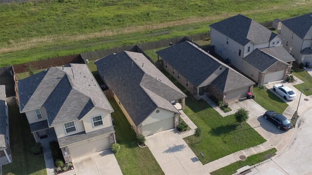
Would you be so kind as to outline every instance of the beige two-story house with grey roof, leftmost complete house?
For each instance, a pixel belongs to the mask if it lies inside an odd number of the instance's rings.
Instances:
[[[88,67],[52,67],[18,81],[20,113],[36,142],[55,131],[66,162],[115,142],[112,106]]]

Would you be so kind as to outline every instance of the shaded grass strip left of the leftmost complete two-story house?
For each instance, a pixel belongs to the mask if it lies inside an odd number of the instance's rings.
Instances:
[[[26,117],[19,109],[9,107],[10,146],[12,163],[2,166],[3,175],[46,175],[43,155],[34,156],[31,148],[35,140]]]

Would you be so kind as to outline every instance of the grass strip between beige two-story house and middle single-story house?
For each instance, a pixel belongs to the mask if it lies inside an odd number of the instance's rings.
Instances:
[[[112,117],[120,151],[115,154],[124,175],[164,175],[149,148],[137,146],[136,133],[114,99],[109,100],[114,108]]]

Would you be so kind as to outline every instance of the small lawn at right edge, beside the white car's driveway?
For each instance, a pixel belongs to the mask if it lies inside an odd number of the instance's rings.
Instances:
[[[306,77],[306,81],[304,83],[304,88],[302,93],[305,94],[306,96],[312,95],[312,77],[311,75],[305,71],[304,69],[300,69],[298,64],[296,62],[292,63],[292,70],[293,70],[293,75],[300,80],[304,81],[304,77]],[[294,87],[297,88],[299,91],[301,91],[303,86],[302,84],[295,85]],[[298,95],[298,94],[297,94]]]

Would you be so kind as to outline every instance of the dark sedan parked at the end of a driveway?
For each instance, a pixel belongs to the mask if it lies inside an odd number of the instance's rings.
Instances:
[[[280,113],[267,111],[263,114],[263,117],[274,123],[278,129],[289,130],[292,128],[292,123],[290,123],[290,121]]]

